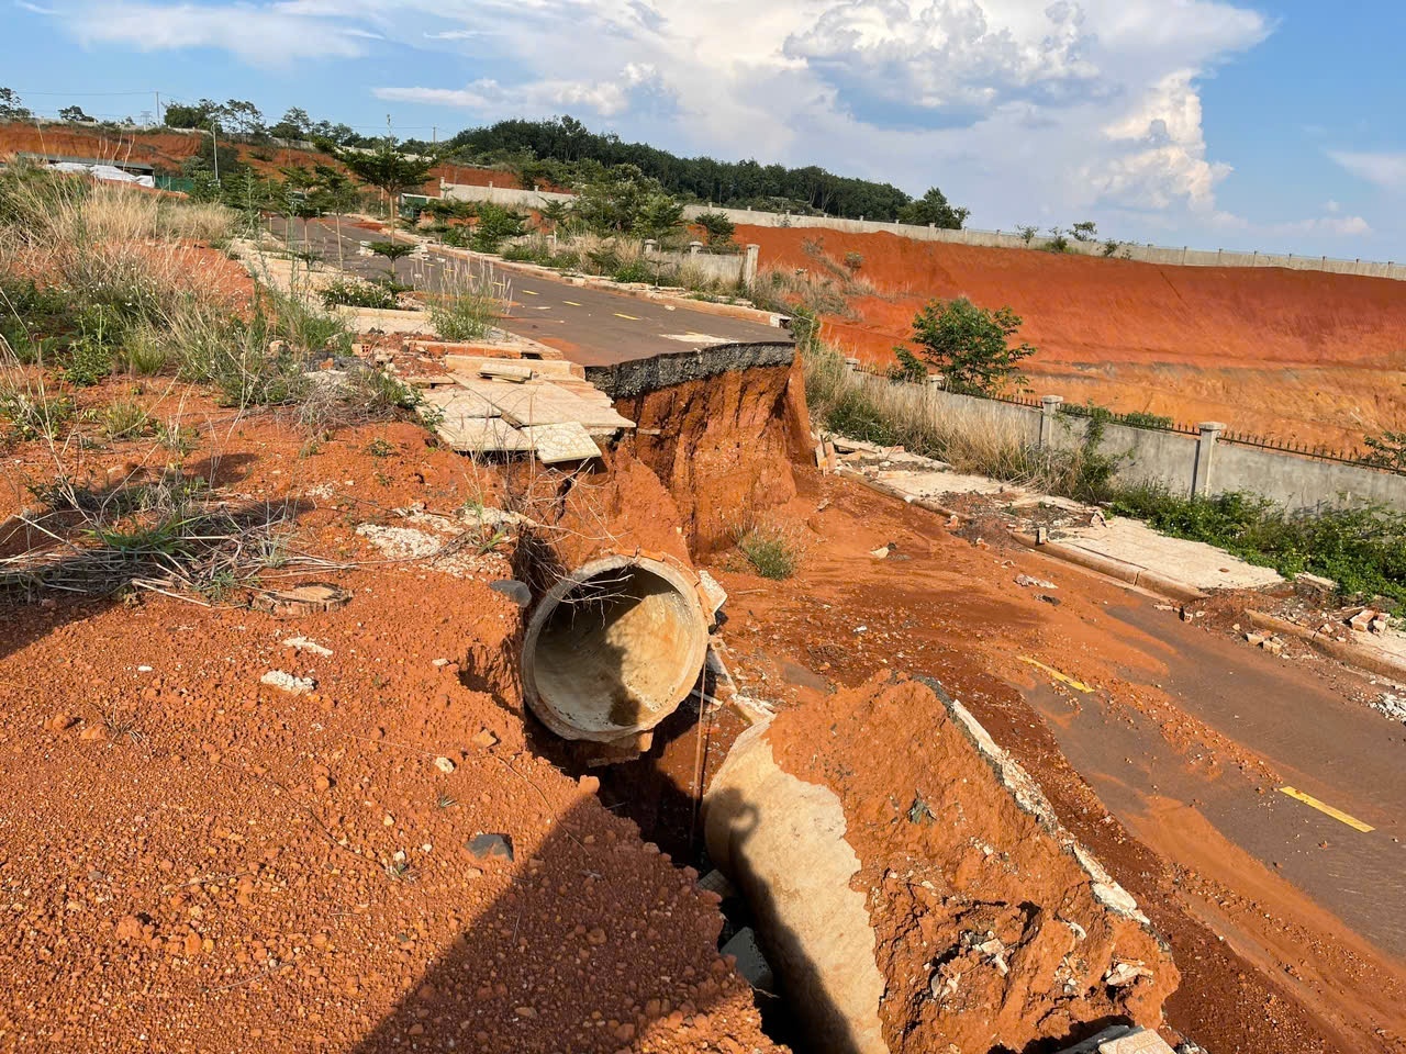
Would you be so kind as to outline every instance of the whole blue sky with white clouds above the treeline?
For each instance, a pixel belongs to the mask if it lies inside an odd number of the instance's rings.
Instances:
[[[425,139],[571,114],[976,228],[1406,260],[1403,35],[1400,0],[0,0],[0,86]]]

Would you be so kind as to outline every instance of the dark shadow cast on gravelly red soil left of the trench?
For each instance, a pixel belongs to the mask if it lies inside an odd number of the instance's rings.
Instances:
[[[585,801],[540,845],[513,846],[512,861],[464,853],[465,871],[506,868],[512,884],[436,956],[356,1054],[628,1051],[651,1030],[657,1039],[683,1019],[714,1013],[714,957],[699,954],[699,933],[671,930],[679,925],[671,912],[682,915],[671,898],[696,894],[672,877],[661,881],[658,859],[621,847],[605,833],[609,826],[596,802]],[[681,995],[688,999],[669,1001]]]

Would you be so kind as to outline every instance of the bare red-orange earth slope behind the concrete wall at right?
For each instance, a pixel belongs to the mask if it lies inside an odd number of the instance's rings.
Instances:
[[[1406,282],[889,233],[740,226],[735,236],[761,245],[763,266],[817,274],[844,273],[842,260],[858,253],[856,277],[877,295],[853,288],[853,313],[827,316],[825,334],[869,361],[893,360],[927,299],[969,297],[1025,320],[1019,339],[1039,349],[1026,372],[1040,393],[1348,447],[1406,417]]]

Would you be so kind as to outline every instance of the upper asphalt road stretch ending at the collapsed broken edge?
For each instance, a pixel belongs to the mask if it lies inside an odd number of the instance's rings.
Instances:
[[[283,222],[276,219],[273,229],[283,235]],[[292,239],[295,245],[304,239],[301,221],[292,225]],[[339,263],[353,274],[370,278],[391,271],[384,257],[359,254],[361,242],[384,240],[384,236],[347,221],[342,221],[340,254],[337,225],[332,219],[309,221],[307,240],[323,260]],[[485,267],[509,301],[508,315],[499,325],[555,347],[582,365],[612,365],[711,344],[792,343],[790,332],[776,326],[572,285],[510,266],[467,261],[451,252],[434,253],[429,260],[396,260],[394,270],[398,281],[433,291],[456,270],[470,268],[477,274]]]

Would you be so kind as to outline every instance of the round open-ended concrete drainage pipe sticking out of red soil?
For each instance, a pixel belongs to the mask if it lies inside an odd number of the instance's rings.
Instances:
[[[565,739],[612,742],[654,728],[697,682],[707,652],[697,582],[640,555],[595,559],[537,604],[523,694]]]

